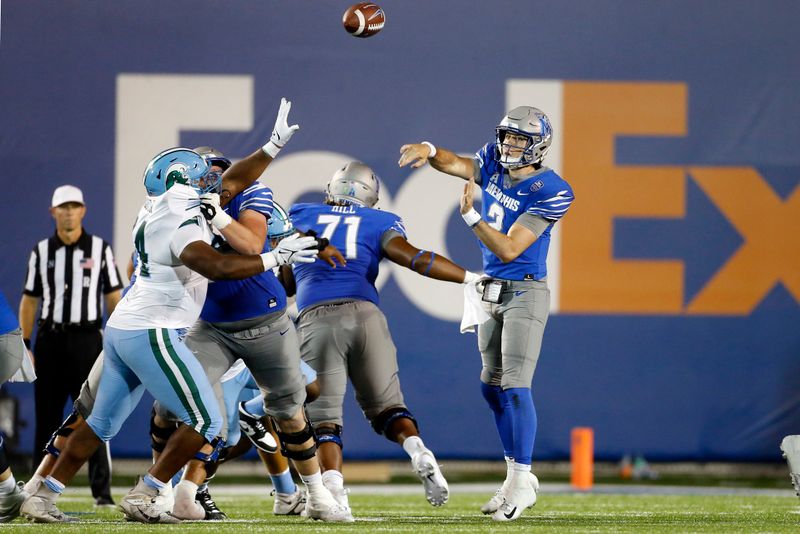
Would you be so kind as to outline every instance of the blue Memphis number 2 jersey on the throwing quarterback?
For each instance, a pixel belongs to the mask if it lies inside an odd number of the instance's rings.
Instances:
[[[485,145],[475,155],[481,172],[481,218],[506,234],[523,213],[550,221],[550,226],[514,261],[503,263],[479,241],[483,270],[489,276],[505,280],[541,280],[547,276],[547,250],[550,230],[575,199],[572,187],[550,169],[526,178],[516,185],[508,171],[497,161],[496,143]]]

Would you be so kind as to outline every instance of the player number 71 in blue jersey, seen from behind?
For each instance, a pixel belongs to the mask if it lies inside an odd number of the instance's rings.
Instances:
[[[317,431],[323,481],[348,510],[341,473],[342,403],[348,377],[372,428],[403,447],[428,502],[441,506],[448,498],[447,481],[403,400],[397,353],[377,306],[375,278],[384,257],[438,280],[460,284],[478,276],[411,245],[397,215],[373,209],[379,186],[372,169],[350,162],[328,182],[324,204],[297,204],[289,211],[295,228],[329,239],[347,259],[346,269],[327,269],[319,262],[294,268],[300,350],[303,360],[317,371],[320,385],[320,396],[308,406],[308,415]]]

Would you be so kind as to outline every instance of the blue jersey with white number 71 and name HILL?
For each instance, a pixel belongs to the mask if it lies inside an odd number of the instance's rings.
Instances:
[[[301,232],[314,230],[328,238],[347,259],[346,267],[336,269],[322,260],[294,265],[298,310],[340,299],[378,304],[375,278],[383,258],[381,239],[390,230],[406,236],[400,217],[356,205],[296,204],[289,218]]]

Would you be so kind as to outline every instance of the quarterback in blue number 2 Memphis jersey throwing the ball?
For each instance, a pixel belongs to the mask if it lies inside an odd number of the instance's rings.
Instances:
[[[550,307],[547,250],[550,231],[569,209],[570,185],[542,165],[552,139],[547,116],[520,106],[503,117],[496,139],[474,158],[427,141],[403,145],[400,167],[434,169],[468,183],[461,215],[475,232],[489,280],[483,301],[490,315],[478,328],[483,360],[481,391],[494,412],[508,472],[503,486],[481,511],[513,521],[536,503],[539,482],[531,473],[536,411],[531,382]],[[472,207],[474,184],[482,189],[482,213]]]

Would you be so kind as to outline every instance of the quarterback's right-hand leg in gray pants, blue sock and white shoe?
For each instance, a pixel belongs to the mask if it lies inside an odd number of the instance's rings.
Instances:
[[[542,282],[531,282],[530,290],[501,305],[501,387],[513,421],[514,467],[505,502],[492,516],[496,521],[513,521],[526,508],[536,504],[539,481],[531,473],[531,456],[537,419],[531,382],[539,359],[549,308],[550,292]]]

